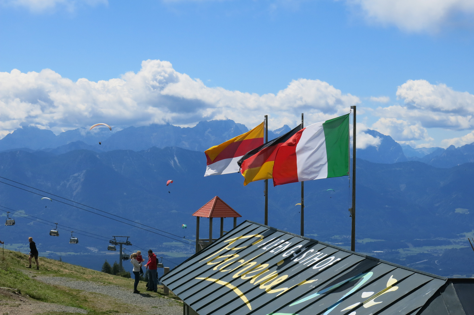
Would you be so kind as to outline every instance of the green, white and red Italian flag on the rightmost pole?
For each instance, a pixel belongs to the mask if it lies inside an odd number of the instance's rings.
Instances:
[[[349,175],[349,114],[296,132],[276,152],[273,185]]]

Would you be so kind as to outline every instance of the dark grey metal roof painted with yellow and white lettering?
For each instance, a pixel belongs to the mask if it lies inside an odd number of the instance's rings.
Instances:
[[[199,315],[416,314],[446,282],[251,221],[161,280]]]

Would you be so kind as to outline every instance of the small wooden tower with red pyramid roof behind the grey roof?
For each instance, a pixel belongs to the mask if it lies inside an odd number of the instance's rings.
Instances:
[[[212,198],[199,210],[192,214],[196,217],[196,253],[210,245],[217,238],[212,238],[212,218],[220,218],[220,236],[224,235],[224,218],[234,218],[234,228],[237,226],[237,218],[242,216],[232,209],[218,196]],[[199,218],[209,218],[209,238],[199,239]]]

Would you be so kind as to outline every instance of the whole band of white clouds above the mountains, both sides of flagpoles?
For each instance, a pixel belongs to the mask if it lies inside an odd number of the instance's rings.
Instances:
[[[474,129],[474,95],[444,84],[408,80],[397,89],[401,104],[367,108],[379,118],[369,128],[394,140],[430,143],[428,128]],[[357,96],[320,80],[297,79],[276,94],[264,95],[207,87],[200,79],[173,69],[168,61],[147,60],[137,73],[93,82],[73,82],[53,70],[22,73],[0,72],[0,136],[34,125],[56,134],[97,122],[115,127],[172,123],[192,126],[202,120],[232,119],[252,128],[269,115],[269,127],[295,126],[305,114],[305,125],[343,115]],[[362,108],[361,108],[362,109]],[[364,111],[359,111],[364,114]],[[360,120],[359,120],[360,121]],[[358,124],[359,131],[365,130]],[[361,132],[357,147],[377,145],[380,140]],[[456,146],[474,141],[474,133],[443,140]]]

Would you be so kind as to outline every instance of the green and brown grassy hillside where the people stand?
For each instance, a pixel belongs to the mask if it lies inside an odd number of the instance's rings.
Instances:
[[[28,295],[39,301],[84,308],[91,311],[89,314],[105,315],[124,313],[125,311],[127,311],[128,314],[137,314],[141,311],[140,308],[116,303],[113,299],[98,293],[89,293],[62,286],[48,285],[36,281],[34,278],[36,276],[69,277],[76,280],[95,281],[105,285],[113,284],[124,289],[133,290],[132,279],[113,276],[100,271],[43,257],[39,257],[39,264],[39,271],[28,269],[28,256],[26,254],[5,250],[4,260],[0,263],[0,287],[20,289],[23,295]],[[33,262],[33,267],[34,266],[35,264]],[[32,278],[28,277],[24,272],[33,273]],[[145,283],[140,282],[138,290],[143,292],[145,289]],[[158,291],[162,293],[163,287],[158,288]],[[160,294],[156,293],[151,293],[151,295],[161,297]],[[0,299],[2,299],[1,295]],[[5,297],[3,299],[5,299]]]

